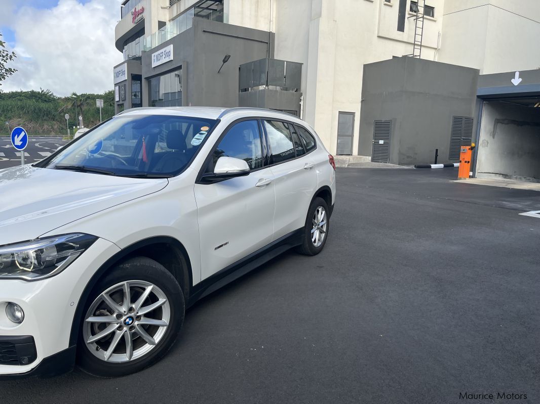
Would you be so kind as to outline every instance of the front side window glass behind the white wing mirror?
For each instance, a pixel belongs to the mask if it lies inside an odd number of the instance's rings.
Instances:
[[[214,150],[212,171],[220,157],[234,157],[244,160],[250,169],[262,167],[261,138],[259,122],[243,121],[227,131]]]

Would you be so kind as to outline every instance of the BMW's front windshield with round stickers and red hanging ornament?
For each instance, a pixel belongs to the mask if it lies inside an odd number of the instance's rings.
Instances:
[[[133,177],[184,170],[217,121],[186,116],[116,116],[37,167]]]

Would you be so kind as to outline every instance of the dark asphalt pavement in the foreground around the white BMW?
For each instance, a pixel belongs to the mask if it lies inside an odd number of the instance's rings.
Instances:
[[[285,253],[203,299],[143,372],[0,382],[1,401],[540,402],[540,220],[518,214],[540,193],[456,176],[338,169],[320,255]]]

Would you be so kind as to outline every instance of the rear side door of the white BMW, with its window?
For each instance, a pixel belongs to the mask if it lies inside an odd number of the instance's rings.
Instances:
[[[318,180],[313,155],[306,154],[293,124],[273,119],[262,123],[275,182],[273,239],[276,240],[305,225]]]

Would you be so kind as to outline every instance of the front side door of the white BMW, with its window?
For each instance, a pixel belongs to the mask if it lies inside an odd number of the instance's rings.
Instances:
[[[195,184],[201,246],[201,279],[207,278],[272,241],[274,182],[265,167],[257,119],[233,124],[217,142],[206,163],[213,172],[219,157],[246,161],[244,177]]]

